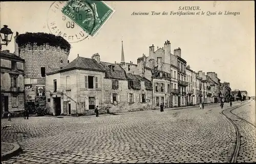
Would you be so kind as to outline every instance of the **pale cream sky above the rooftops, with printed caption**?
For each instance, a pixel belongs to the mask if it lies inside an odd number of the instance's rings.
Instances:
[[[171,52],[181,48],[181,57],[190,69],[198,72],[216,72],[221,82],[230,83],[232,90],[246,90],[255,95],[255,33],[254,1],[194,1],[194,2],[118,2],[106,1],[114,9],[113,15],[103,24],[94,37],[71,43],[69,60],[79,54],[91,58],[99,53],[100,60],[115,63],[121,60],[123,41],[125,62],[137,63],[142,54],[148,56],[152,44],[163,47],[169,40]],[[50,6],[53,2],[1,2],[0,25],[4,24],[14,32],[51,33],[50,21],[56,21],[58,28],[69,34],[82,31],[65,28],[61,15],[54,15]],[[179,7],[196,6],[200,13],[217,12],[217,15],[169,15]],[[49,12],[50,11],[50,12]],[[160,15],[151,15],[152,11]],[[162,15],[165,11],[168,15]],[[218,15],[219,11],[223,14]],[[236,16],[224,15],[239,12]],[[149,15],[132,15],[133,12],[148,12]],[[182,11],[186,12],[186,11]],[[190,11],[197,13],[198,11]],[[69,19],[69,18],[67,18]],[[14,41],[2,50],[14,51]]]

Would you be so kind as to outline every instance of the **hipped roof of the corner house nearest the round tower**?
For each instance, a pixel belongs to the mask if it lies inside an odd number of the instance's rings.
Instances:
[[[67,66],[63,67],[60,71],[70,70],[70,69],[86,69],[86,70],[94,70],[94,71],[102,71],[105,72],[104,68],[97,63],[96,60],[91,58],[83,58],[77,57]]]

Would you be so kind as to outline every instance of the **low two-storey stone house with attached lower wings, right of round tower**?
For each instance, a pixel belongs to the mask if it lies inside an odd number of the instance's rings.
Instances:
[[[59,81],[59,82],[58,82]],[[59,71],[46,77],[47,104],[53,115],[93,114],[106,107],[141,107],[152,101],[151,81],[126,73],[121,64],[77,57]],[[57,99],[57,101],[56,101]]]

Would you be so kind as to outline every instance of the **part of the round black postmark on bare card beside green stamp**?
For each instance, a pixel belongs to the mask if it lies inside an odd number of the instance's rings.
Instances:
[[[89,35],[61,12],[61,9],[67,3],[65,1],[56,1],[51,4],[47,15],[47,26],[52,34],[63,37],[69,43],[80,42],[88,38]]]

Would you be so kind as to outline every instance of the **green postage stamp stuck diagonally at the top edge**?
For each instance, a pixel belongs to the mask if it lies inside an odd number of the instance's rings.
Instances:
[[[70,0],[61,11],[91,36],[94,36],[114,13],[104,2],[90,0]]]

